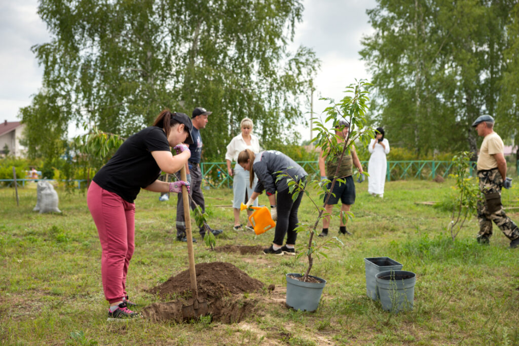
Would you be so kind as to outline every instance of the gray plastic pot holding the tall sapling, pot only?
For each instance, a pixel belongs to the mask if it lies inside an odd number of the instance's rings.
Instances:
[[[303,275],[296,273],[286,274],[286,305],[295,310],[316,311],[326,280],[309,275],[320,281],[319,283],[312,283],[299,281],[290,276],[303,277]]]

